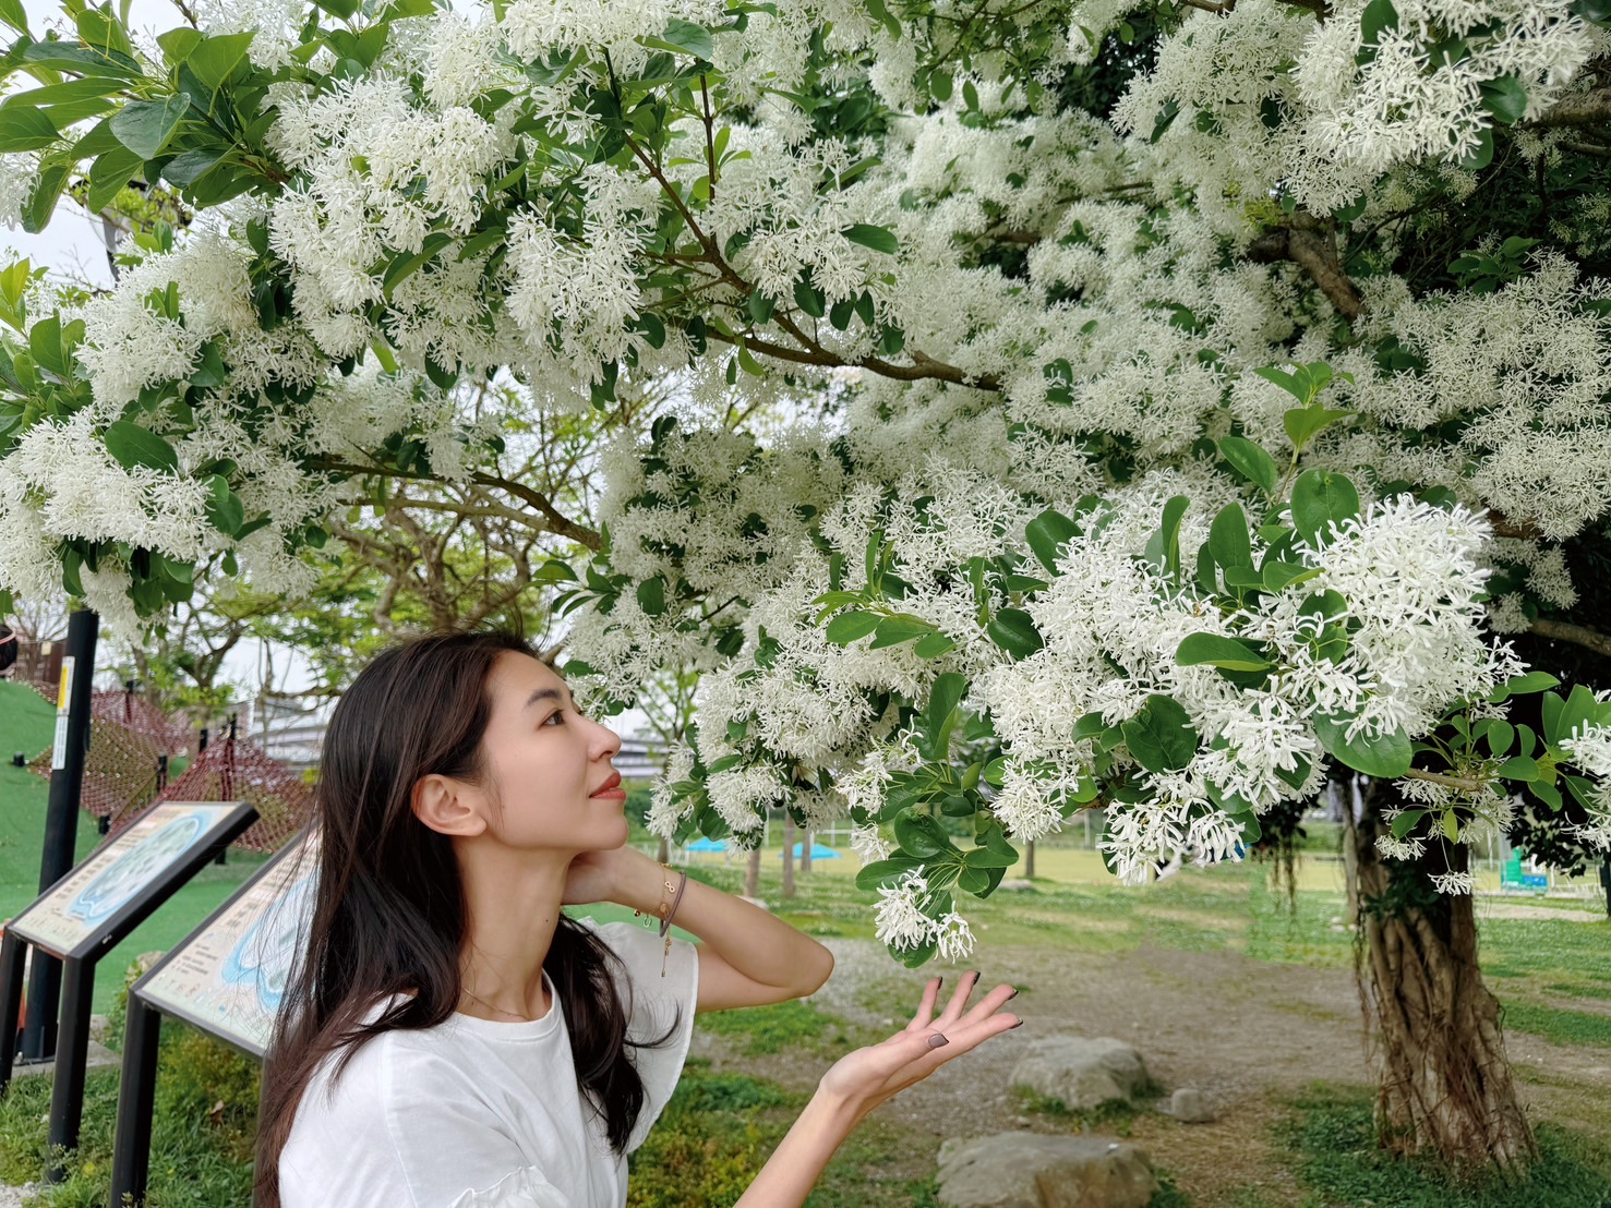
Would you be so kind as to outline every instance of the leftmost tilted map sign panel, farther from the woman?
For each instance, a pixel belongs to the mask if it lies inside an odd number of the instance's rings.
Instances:
[[[56,957],[89,957],[126,921],[139,921],[153,896],[166,897],[197,855],[229,842],[253,818],[256,810],[243,802],[153,805],[6,926]]]

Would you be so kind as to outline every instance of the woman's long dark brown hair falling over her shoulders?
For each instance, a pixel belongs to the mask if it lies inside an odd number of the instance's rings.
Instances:
[[[466,907],[451,841],[414,817],[432,773],[478,781],[498,656],[530,654],[516,633],[438,633],[395,646],[346,689],[319,763],[319,884],[303,958],[280,1005],[263,1074],[256,1203],[279,1208],[279,1161],[321,1061],[338,1078],[364,1040],[432,1028],[459,1002]],[[577,1081],[615,1152],[643,1110],[628,1060],[619,960],[561,916],[543,962],[565,1011]],[[364,1021],[380,1002],[393,1000]],[[652,1044],[652,1042],[651,1042]]]

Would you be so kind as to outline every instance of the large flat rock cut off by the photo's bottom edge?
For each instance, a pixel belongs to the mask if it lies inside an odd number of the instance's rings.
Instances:
[[[1113,1137],[1000,1132],[939,1148],[950,1208],[1145,1208],[1157,1190],[1147,1155]]]

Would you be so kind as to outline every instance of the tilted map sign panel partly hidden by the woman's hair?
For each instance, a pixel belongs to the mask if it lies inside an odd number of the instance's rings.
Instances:
[[[316,842],[308,831],[292,839],[132,992],[263,1057],[313,912]]]

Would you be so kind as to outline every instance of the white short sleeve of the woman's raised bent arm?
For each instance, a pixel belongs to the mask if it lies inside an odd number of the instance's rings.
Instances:
[[[673,939],[672,950],[656,931],[632,923],[594,923],[590,926],[620,957],[627,971],[622,1000],[630,1011],[627,1036],[643,1047],[632,1050],[632,1063],[643,1079],[644,1102],[627,1152],[638,1148],[659,1118],[677,1079],[683,1074],[688,1045],[694,1032],[694,1008],[699,1005],[699,949],[686,939]],[[665,976],[661,976],[664,968]],[[662,1044],[652,1044],[661,1040]]]

